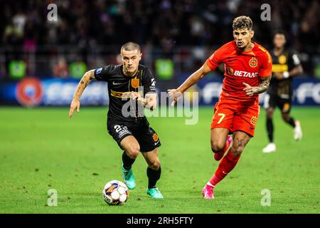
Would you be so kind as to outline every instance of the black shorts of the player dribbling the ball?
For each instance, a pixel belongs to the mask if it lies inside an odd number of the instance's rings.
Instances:
[[[107,130],[120,148],[122,148],[120,142],[128,135],[133,135],[137,139],[141,152],[149,152],[161,146],[159,137],[154,129],[149,126],[148,120],[141,120],[138,123],[126,123],[121,120],[108,119]]]

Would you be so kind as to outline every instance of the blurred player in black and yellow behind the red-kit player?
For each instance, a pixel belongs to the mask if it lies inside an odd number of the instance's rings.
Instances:
[[[302,138],[302,129],[299,120],[290,115],[292,106],[292,78],[303,72],[297,53],[285,48],[286,35],[283,31],[276,31],[273,36],[274,49],[272,50],[272,78],[269,90],[265,95],[265,109],[267,111],[267,135],[269,144],[262,152],[275,152],[272,116],[274,108],[279,107],[282,119],[294,128],[294,140]]]

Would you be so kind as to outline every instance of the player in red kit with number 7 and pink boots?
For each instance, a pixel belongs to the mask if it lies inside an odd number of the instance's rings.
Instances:
[[[215,160],[221,160],[213,177],[203,187],[205,199],[213,199],[215,186],[233,170],[240,155],[255,134],[260,114],[259,93],[267,90],[271,78],[270,53],[253,42],[252,20],[239,16],[233,20],[233,37],[218,48],[210,58],[178,88],[168,90],[174,105],[181,94],[197,83],[220,63],[224,63],[223,91],[215,104],[211,123],[211,150]],[[228,135],[232,134],[232,138]],[[223,155],[227,154],[223,157]]]

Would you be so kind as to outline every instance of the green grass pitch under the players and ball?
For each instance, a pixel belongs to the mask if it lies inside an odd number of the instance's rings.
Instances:
[[[215,199],[201,189],[218,167],[210,150],[212,108],[199,110],[197,125],[183,118],[149,118],[162,146],[158,187],[163,200],[146,195],[146,162],[134,163],[137,188],[122,206],[108,206],[102,188],[122,180],[121,155],[107,134],[106,108],[0,108],[0,213],[319,213],[320,108],[294,107],[304,137],[274,113],[277,152],[267,145],[265,111],[235,167],[215,188]],[[48,207],[48,190],[58,191],[58,206]],[[271,192],[271,206],[260,204]]]

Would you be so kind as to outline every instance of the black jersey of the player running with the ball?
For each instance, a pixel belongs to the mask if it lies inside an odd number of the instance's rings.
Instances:
[[[146,93],[156,92],[156,82],[149,68],[143,65],[139,65],[137,73],[132,76],[124,76],[122,71],[123,65],[108,65],[103,68],[95,69],[95,79],[97,81],[106,81],[109,92],[109,111],[108,119],[121,120],[127,123],[135,123],[137,120],[146,120],[143,113],[139,113],[137,102],[135,104],[128,105],[128,102],[132,102],[129,99],[122,98],[122,95],[126,92],[136,91],[139,92],[139,88],[143,87],[143,96]],[[140,93],[142,94],[142,91]],[[124,106],[125,105],[125,106]],[[134,108],[134,110],[126,110],[126,114],[123,115],[122,108],[127,107]],[[128,113],[129,116],[128,116]]]

